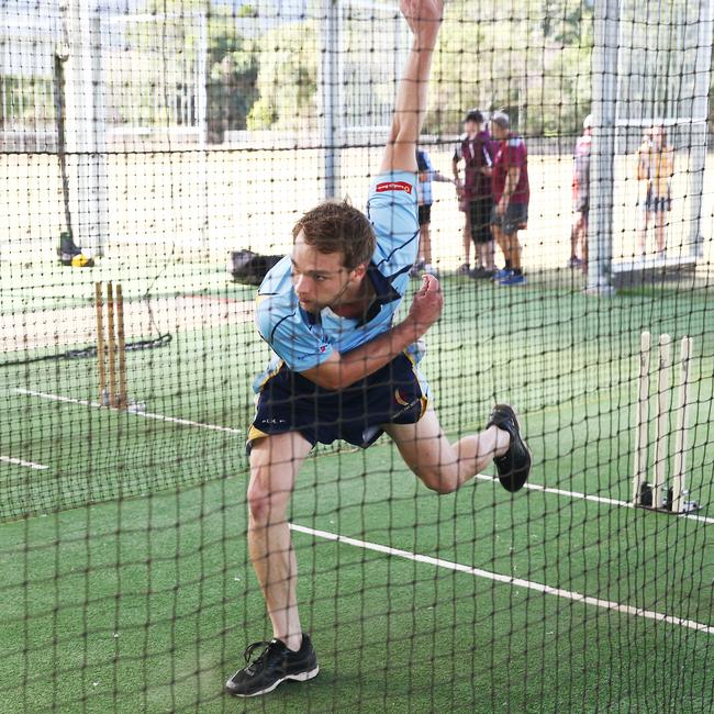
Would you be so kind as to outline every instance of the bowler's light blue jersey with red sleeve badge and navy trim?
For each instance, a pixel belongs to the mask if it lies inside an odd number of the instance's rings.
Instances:
[[[305,371],[324,362],[333,350],[350,352],[391,328],[419,250],[416,176],[409,171],[378,176],[369,191],[367,217],[377,247],[366,277],[375,301],[365,320],[341,317],[330,308],[320,314],[304,311],[292,286],[290,256],[265,277],[258,289],[256,324],[276,357],[256,379],[256,391],[281,362],[292,371]]]

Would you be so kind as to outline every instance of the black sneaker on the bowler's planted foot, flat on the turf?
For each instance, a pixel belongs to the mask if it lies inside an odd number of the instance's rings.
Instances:
[[[253,652],[266,645],[260,656],[250,661]],[[280,639],[269,643],[253,643],[244,655],[247,667],[239,669],[225,683],[228,694],[234,696],[257,696],[271,692],[280,682],[294,679],[299,682],[317,676],[317,656],[308,635],[302,636],[302,645],[297,652],[288,649]]]

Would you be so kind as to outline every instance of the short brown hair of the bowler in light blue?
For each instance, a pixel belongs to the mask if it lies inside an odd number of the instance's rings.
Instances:
[[[375,253],[371,223],[348,201],[325,201],[308,211],[292,228],[293,241],[301,231],[305,243],[320,253],[342,253],[348,270],[368,264]]]

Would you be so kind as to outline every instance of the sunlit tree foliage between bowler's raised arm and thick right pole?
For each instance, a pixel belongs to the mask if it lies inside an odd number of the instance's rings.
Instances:
[[[592,10],[572,0],[447,5],[426,131],[455,133],[466,110],[504,109],[520,132],[569,134],[590,111]]]

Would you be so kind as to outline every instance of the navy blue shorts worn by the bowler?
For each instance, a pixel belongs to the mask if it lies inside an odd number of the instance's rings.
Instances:
[[[344,439],[367,448],[382,435],[383,424],[419,422],[426,411],[426,389],[405,354],[338,392],[282,365],[258,395],[248,450],[255,440],[286,432],[299,432],[313,446]]]

